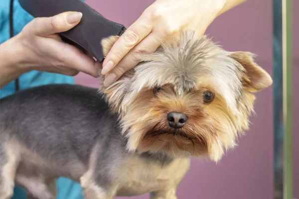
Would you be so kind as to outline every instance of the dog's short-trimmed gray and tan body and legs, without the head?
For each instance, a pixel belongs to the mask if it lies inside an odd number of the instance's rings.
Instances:
[[[0,110],[0,168],[11,174],[0,180],[15,178],[38,199],[52,199],[42,184],[57,177],[80,183],[90,172],[112,196],[152,192],[174,199],[189,168],[189,158],[128,153],[117,115],[93,88],[36,87],[1,99]]]

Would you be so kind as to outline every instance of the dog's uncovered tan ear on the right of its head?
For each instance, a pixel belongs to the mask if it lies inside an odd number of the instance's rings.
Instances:
[[[271,76],[254,62],[254,54],[250,52],[232,52],[230,56],[245,68],[244,86],[251,92],[261,91],[272,85]]]

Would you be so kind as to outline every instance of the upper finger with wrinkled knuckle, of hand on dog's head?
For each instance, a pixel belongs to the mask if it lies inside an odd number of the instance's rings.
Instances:
[[[106,75],[111,71],[132,48],[149,35],[152,27],[150,17],[142,14],[112,46],[103,62],[102,74]]]

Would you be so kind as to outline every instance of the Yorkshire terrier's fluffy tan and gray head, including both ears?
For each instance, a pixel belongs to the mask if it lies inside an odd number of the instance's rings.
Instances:
[[[102,41],[104,54],[117,39]],[[248,129],[254,94],[272,85],[253,57],[182,32],[100,92],[119,114],[130,151],[217,162]]]

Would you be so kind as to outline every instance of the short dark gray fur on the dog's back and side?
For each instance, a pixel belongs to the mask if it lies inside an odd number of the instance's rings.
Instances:
[[[73,159],[68,156],[88,161],[96,140],[105,140],[103,152],[125,146],[117,116],[93,88],[66,84],[32,88],[1,99],[0,110],[1,140],[14,137],[61,164]]]

